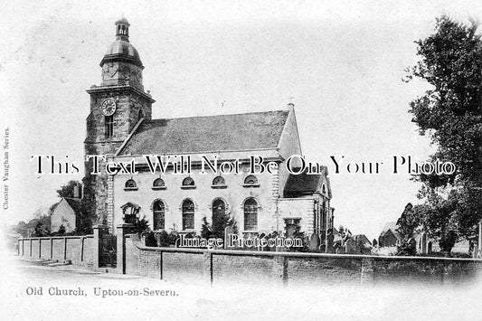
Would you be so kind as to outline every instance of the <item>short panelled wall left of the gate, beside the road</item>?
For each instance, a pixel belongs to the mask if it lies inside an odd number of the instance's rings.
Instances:
[[[29,259],[71,260],[72,264],[93,267],[94,237],[55,236],[18,240],[18,255]]]

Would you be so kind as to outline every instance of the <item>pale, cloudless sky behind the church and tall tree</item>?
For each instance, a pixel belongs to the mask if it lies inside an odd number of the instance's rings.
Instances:
[[[328,166],[335,224],[376,238],[406,203],[420,202],[392,156],[423,162],[434,150],[408,113],[427,84],[402,81],[414,41],[441,14],[482,17],[478,1],[2,1],[2,145],[9,128],[9,208],[29,220],[80,175],[35,175],[33,155],[83,163],[85,118],[124,14],[145,66],[153,118],[284,109],[295,104],[303,155]],[[4,150],[5,151],[5,150]],[[335,173],[383,162],[381,174]],[[4,153],[1,162],[4,163]],[[346,167],[345,167],[346,168]]]

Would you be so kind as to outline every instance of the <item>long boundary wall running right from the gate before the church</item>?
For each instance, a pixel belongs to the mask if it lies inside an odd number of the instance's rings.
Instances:
[[[125,254],[127,274],[196,283],[461,284],[482,270],[468,259],[149,248],[137,235],[126,237]]]

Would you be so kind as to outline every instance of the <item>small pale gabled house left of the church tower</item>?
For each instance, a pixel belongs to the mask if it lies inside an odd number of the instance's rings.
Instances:
[[[51,231],[59,231],[61,225],[65,228],[65,232],[75,230],[79,214],[80,199],[62,197],[61,202],[57,203],[51,211]]]

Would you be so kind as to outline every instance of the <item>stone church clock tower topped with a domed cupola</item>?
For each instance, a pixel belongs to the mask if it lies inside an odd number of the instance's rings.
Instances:
[[[116,22],[116,41],[110,44],[100,61],[102,82],[87,90],[90,114],[84,141],[86,156],[114,156],[137,123],[152,118],[155,100],[144,91],[144,66],[137,49],[129,42],[129,26],[124,17]],[[92,164],[91,159],[85,164],[86,197],[90,197],[91,211],[99,222],[109,221],[110,212],[113,212],[108,199],[112,177],[105,173],[90,175]]]

